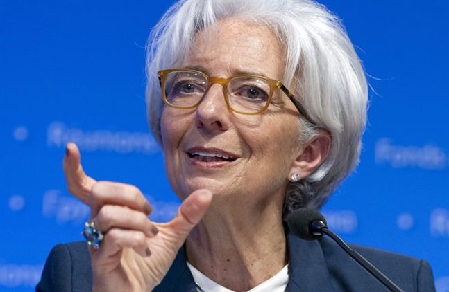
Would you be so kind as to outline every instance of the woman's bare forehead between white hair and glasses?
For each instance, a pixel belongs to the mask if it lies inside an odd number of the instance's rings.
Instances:
[[[242,19],[224,19],[196,33],[184,66],[210,75],[255,73],[282,79],[285,50],[273,31]]]

